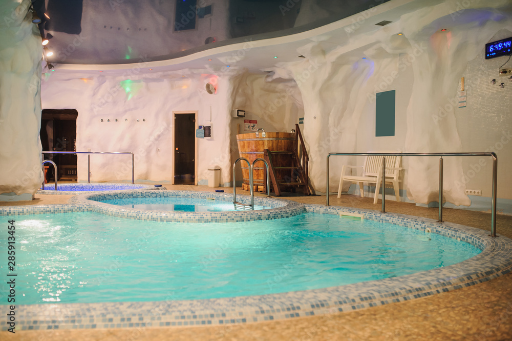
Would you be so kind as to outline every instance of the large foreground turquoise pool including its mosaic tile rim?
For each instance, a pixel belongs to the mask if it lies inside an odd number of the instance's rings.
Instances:
[[[170,192],[162,191],[177,195]],[[133,209],[84,199],[110,194],[0,209],[17,224],[22,329],[225,325],[352,311],[486,282],[512,268],[510,239],[431,219],[265,197],[256,204],[273,208],[124,219]],[[158,222],[166,214],[173,218]],[[194,221],[183,224],[187,216]],[[0,326],[7,329],[5,320]]]

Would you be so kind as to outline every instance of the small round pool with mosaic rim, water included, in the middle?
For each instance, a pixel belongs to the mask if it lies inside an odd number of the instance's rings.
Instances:
[[[249,204],[250,197],[238,195],[237,202]],[[82,194],[72,197],[70,203],[87,205],[95,212],[123,218],[180,223],[248,222],[286,218],[304,212],[301,204],[289,200],[255,196],[255,210],[235,210],[233,194],[167,190]]]

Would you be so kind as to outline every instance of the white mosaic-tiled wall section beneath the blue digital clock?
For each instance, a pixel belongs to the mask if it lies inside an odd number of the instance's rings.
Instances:
[[[489,43],[508,37],[512,37],[512,32],[502,29]],[[510,74],[502,76],[498,71],[507,59],[508,56],[485,59],[485,46],[482,46],[462,75],[467,102],[465,108],[455,108],[455,117],[462,151],[494,151],[498,155],[498,197],[512,199],[512,182],[507,178],[512,171],[512,82]],[[512,69],[512,58],[505,67]],[[492,79],[496,79],[496,84],[491,83]],[[501,83],[505,83],[504,88],[500,87]],[[460,82],[454,92],[458,95],[459,91]],[[462,166],[466,188],[482,190],[482,196],[490,197],[492,159],[465,157]],[[464,183],[462,178],[460,182]]]

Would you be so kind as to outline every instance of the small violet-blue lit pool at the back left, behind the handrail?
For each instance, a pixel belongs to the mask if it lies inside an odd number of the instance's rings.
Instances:
[[[103,191],[119,191],[119,190],[159,190],[165,189],[165,187],[155,187],[154,185],[142,185],[142,184],[115,184],[115,183],[92,183],[92,184],[57,184],[57,190],[55,185],[46,185],[45,189],[37,190],[36,194],[83,194],[83,193],[97,193]]]

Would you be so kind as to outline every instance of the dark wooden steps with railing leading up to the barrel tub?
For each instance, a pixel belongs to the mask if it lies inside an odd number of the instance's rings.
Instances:
[[[298,143],[301,143],[301,156],[298,155]],[[295,192],[296,188],[302,187],[305,195],[311,195],[312,189],[309,187],[308,163],[309,156],[304,144],[301,130],[298,124],[295,125],[295,142],[293,151],[272,151],[265,149],[263,158],[268,163],[270,186],[276,196],[280,196],[283,190]],[[289,171],[289,173],[287,172]],[[281,178],[277,175],[281,174]],[[287,175],[283,176],[283,172]],[[266,172],[264,172],[264,182],[266,187]],[[266,192],[266,188],[264,191]]]

